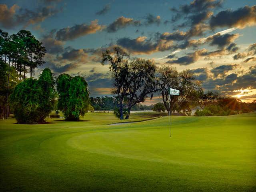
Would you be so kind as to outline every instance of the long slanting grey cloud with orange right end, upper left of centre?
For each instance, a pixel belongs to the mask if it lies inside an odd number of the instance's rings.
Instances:
[[[96,33],[104,28],[105,26],[98,24],[98,20],[93,20],[89,25],[83,23],[58,30],[56,32],[56,39],[62,41],[74,40],[81,36]]]

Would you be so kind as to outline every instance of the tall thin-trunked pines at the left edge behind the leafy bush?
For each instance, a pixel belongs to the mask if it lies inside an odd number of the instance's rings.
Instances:
[[[8,35],[0,29],[0,117],[10,115],[9,95],[15,86],[32,77],[36,67],[44,63],[46,49],[30,31],[20,30]]]

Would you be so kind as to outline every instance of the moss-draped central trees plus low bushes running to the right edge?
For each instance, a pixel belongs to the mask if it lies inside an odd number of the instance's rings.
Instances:
[[[152,60],[130,58],[120,47],[103,52],[101,63],[110,66],[114,79],[112,92],[118,106],[114,114],[120,119],[128,119],[131,109],[147,98],[152,99],[153,94],[162,97],[162,104],[156,104],[155,111],[177,111],[191,115],[192,109],[200,106],[204,110],[197,110],[196,115],[201,116],[255,110],[254,103],[245,104],[235,98],[222,98],[214,92],[204,93],[201,82],[195,80],[190,70],[178,72],[172,66],[156,67]],[[180,95],[170,95],[170,88],[180,90]]]

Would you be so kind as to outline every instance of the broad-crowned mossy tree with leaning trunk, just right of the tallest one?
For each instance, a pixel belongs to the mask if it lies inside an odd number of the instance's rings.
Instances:
[[[156,66],[151,60],[134,58],[128,63],[125,97],[128,106],[126,119],[129,118],[131,108],[134,105],[144,102],[148,94],[150,94],[150,99],[152,98],[152,93],[156,90],[155,72]]]

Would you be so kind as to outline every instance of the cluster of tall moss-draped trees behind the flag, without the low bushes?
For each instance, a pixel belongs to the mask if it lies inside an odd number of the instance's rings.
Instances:
[[[114,114],[120,119],[128,119],[132,107],[147,98],[152,99],[153,94],[162,96],[168,112],[174,108],[189,111],[202,90],[200,82],[189,70],[178,72],[170,66],[157,68],[152,60],[131,59],[119,47],[103,52],[101,63],[110,65],[114,79],[113,94],[118,104]],[[180,90],[180,96],[169,96],[169,88]]]

